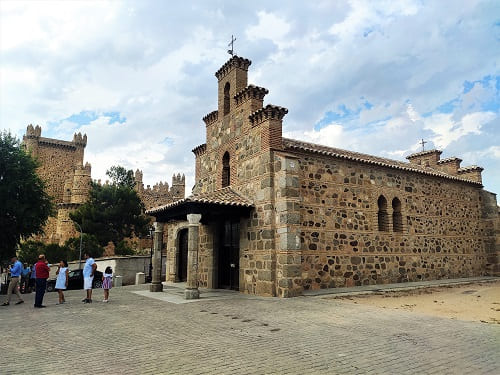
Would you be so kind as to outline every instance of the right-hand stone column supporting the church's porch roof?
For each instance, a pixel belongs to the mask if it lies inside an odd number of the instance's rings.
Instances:
[[[187,286],[184,291],[185,299],[200,298],[198,290],[198,233],[200,227],[200,214],[187,215],[188,226],[188,267]]]

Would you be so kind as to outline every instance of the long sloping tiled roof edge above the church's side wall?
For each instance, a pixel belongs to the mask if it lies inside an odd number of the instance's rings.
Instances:
[[[433,169],[430,167],[424,167],[424,166],[405,163],[405,162],[401,162],[401,161],[397,161],[397,160],[381,158],[378,156],[373,156],[373,155],[368,155],[368,154],[361,154],[359,152],[347,151],[347,150],[342,150],[339,148],[333,148],[333,147],[318,145],[318,144],[314,144],[314,143],[297,141],[295,139],[283,138],[283,148],[285,150],[289,150],[289,151],[310,152],[310,153],[315,153],[315,154],[332,156],[332,157],[336,157],[339,159],[347,159],[347,160],[357,161],[357,162],[361,162],[361,163],[378,165],[381,167],[400,169],[400,170],[409,171],[409,172],[417,172],[417,173],[422,173],[422,174],[426,174],[429,176],[443,177],[443,178],[448,178],[450,180],[465,181],[465,182],[468,182],[468,183],[471,183],[474,185],[482,186],[482,184],[480,182],[457,177],[457,176],[452,176],[450,174],[444,173],[442,171],[439,171],[439,170],[436,170],[436,169]]]

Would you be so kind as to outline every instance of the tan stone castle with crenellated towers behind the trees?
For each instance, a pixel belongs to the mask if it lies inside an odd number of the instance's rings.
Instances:
[[[78,237],[69,214],[84,204],[90,194],[91,170],[89,163],[83,162],[87,146],[87,135],[75,133],[72,141],[42,137],[39,125],[28,125],[23,136],[23,146],[35,157],[40,166],[37,173],[45,182],[47,193],[53,197],[56,215],[49,217],[44,233],[35,236],[45,243],[64,244],[72,237]],[[146,209],[175,202],[184,198],[185,177],[177,174],[172,177],[172,186],[159,182],[152,188],[144,188],[143,173],[135,172],[135,190]]]

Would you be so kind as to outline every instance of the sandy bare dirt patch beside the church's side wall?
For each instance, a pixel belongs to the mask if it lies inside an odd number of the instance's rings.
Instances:
[[[500,324],[500,281],[334,298],[384,309]]]

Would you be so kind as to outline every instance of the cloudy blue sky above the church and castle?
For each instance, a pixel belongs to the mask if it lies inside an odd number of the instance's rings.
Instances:
[[[0,0],[0,129],[85,133],[85,161],[186,175],[214,73],[252,61],[286,137],[406,161],[442,150],[500,193],[500,2]]]

